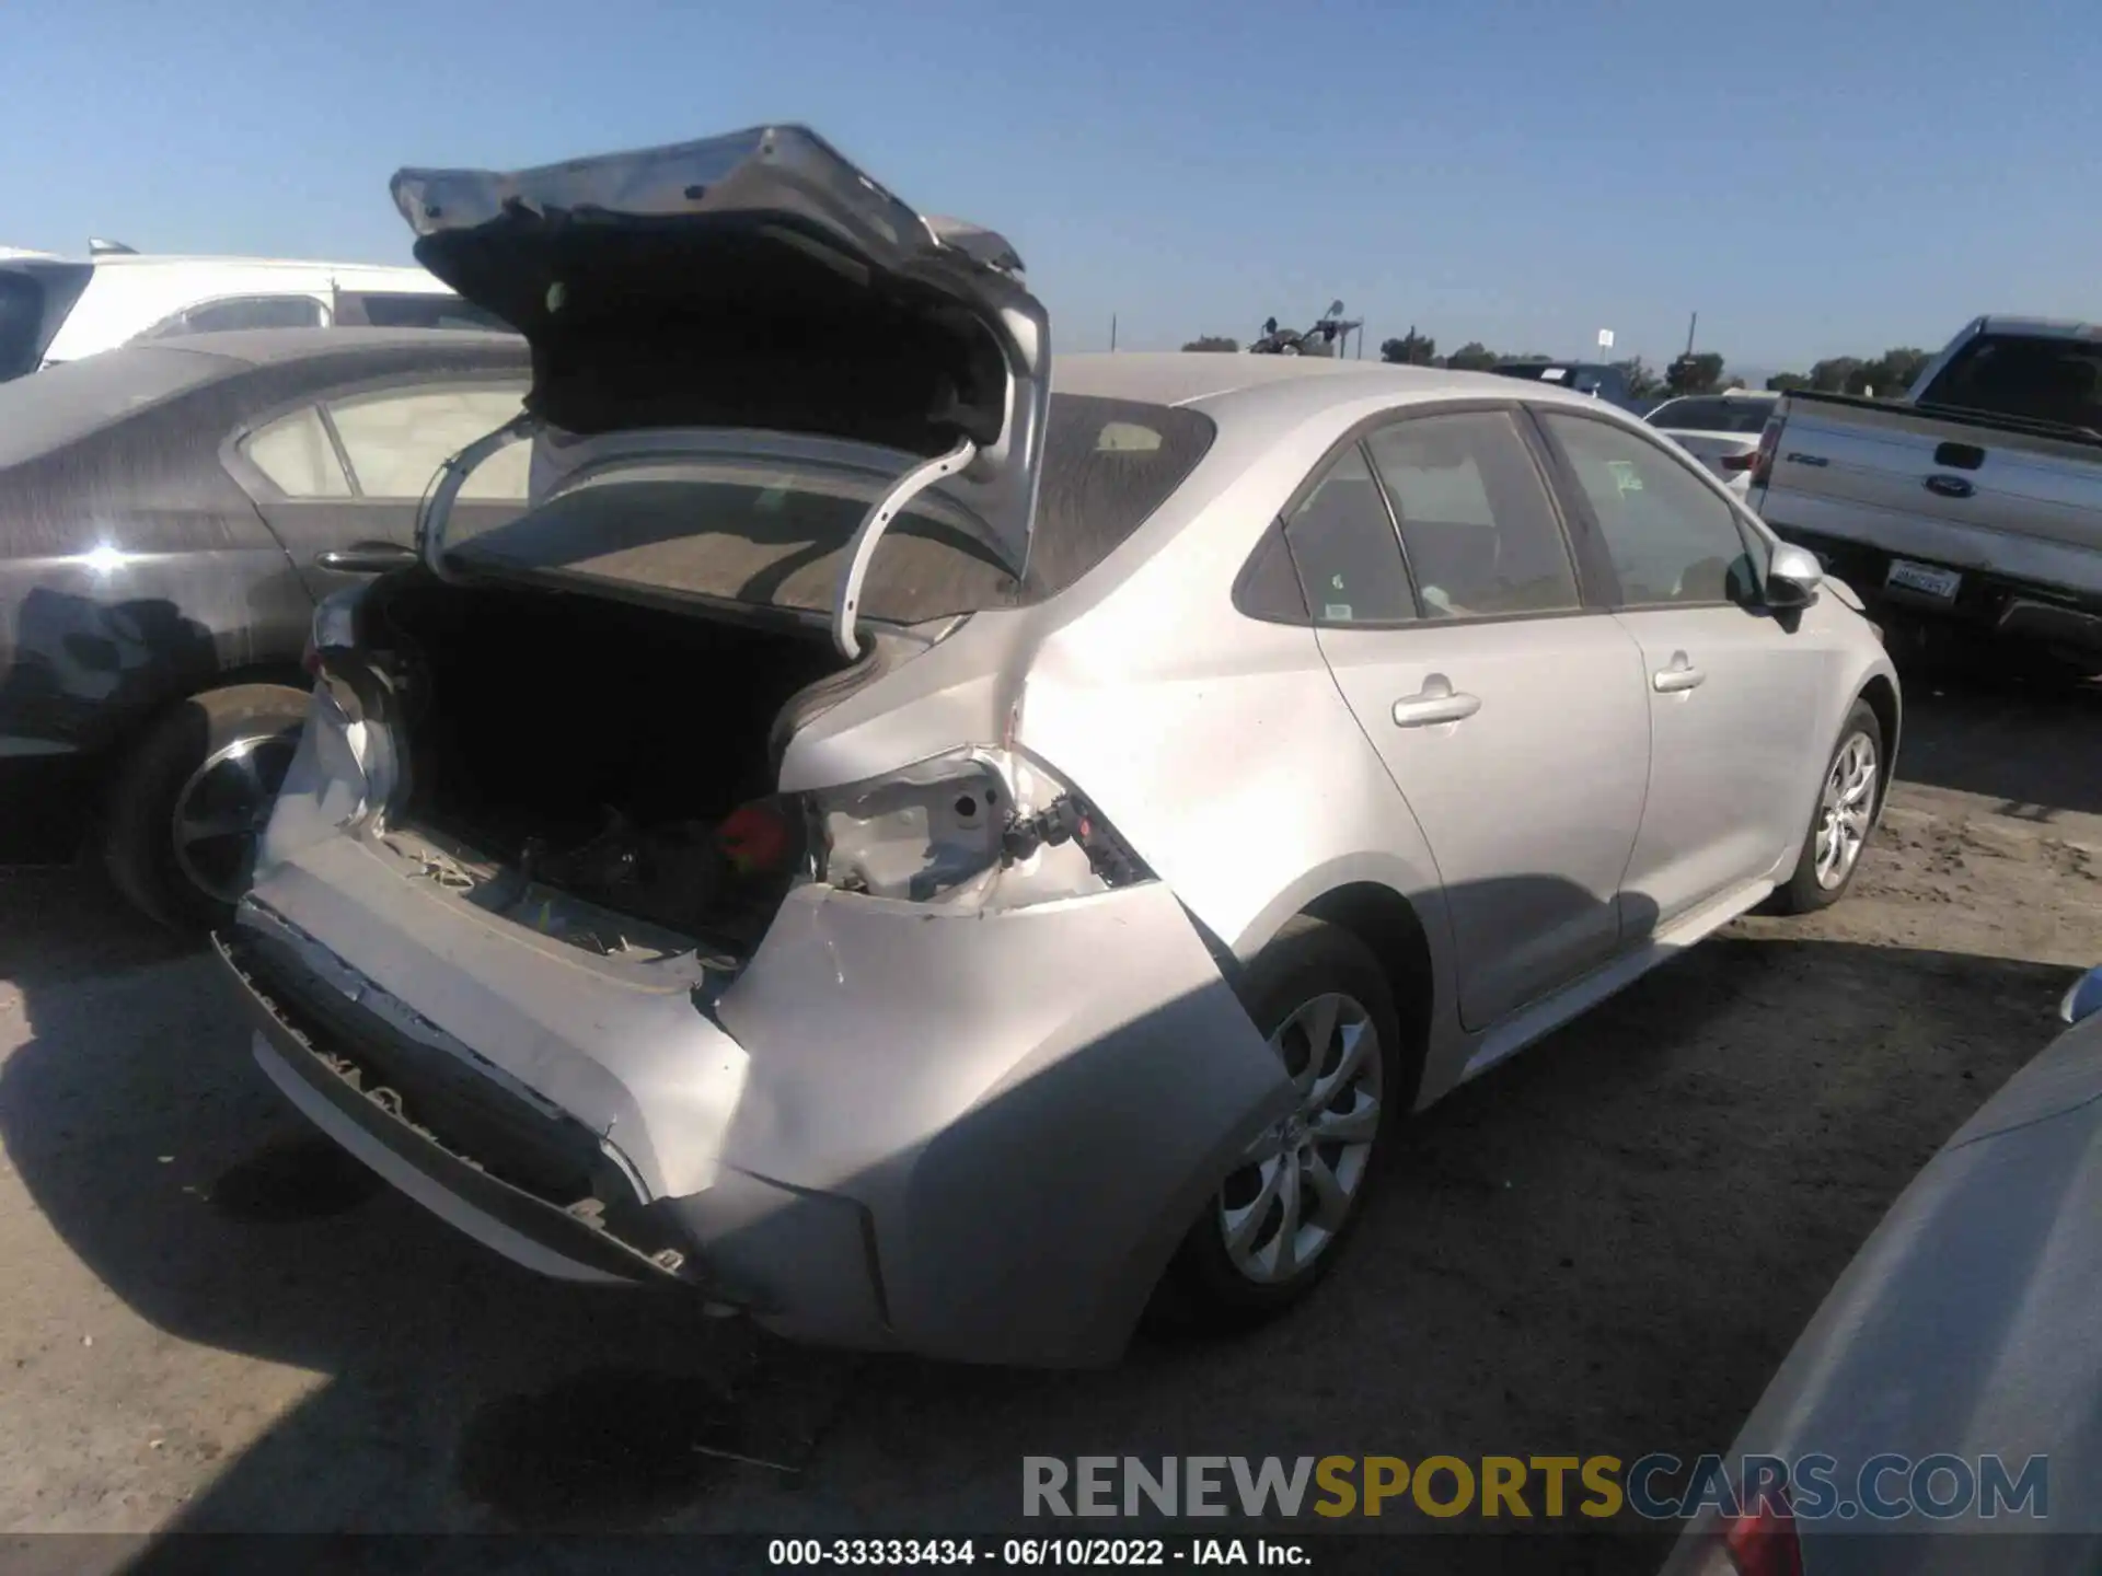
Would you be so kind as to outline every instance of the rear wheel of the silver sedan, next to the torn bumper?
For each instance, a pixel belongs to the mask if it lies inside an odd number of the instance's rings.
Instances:
[[[1238,1330],[1276,1318],[1299,1303],[1335,1267],[1352,1231],[1364,1215],[1364,1196],[1373,1185],[1379,1164],[1392,1149],[1389,1133],[1398,1118],[1396,1107],[1415,1099],[1415,1078],[1408,1076],[1415,1057],[1404,1055],[1402,1021],[1394,1002],[1394,988],[1379,958],[1356,935],[1339,925],[1301,914],[1278,931],[1276,939],[1249,965],[1240,979],[1240,998],[1286,1067],[1295,1072],[1295,1082],[1314,1074],[1318,1088],[1335,1078],[1328,1107],[1316,1110],[1316,1095],[1310,1091],[1299,1112],[1261,1141],[1272,1147],[1282,1141],[1282,1152],[1272,1160],[1257,1160],[1228,1177],[1219,1191],[1204,1204],[1204,1212],[1190,1227],[1175,1259],[1169,1263],[1160,1290],[1148,1311],[1148,1324],[1165,1330]],[[1337,1004],[1335,1030],[1322,1046],[1322,1061],[1312,1061],[1312,1038],[1307,1025],[1324,1021],[1320,1004]],[[1352,1034],[1349,1030],[1356,1030]],[[1354,1044],[1371,1034],[1373,1044],[1364,1046],[1352,1078],[1337,1078],[1343,1059]],[[1371,1070],[1371,1072],[1364,1072]],[[1360,1116],[1364,1097],[1377,1101],[1362,1152],[1354,1143],[1320,1143],[1312,1139],[1318,1118]],[[1345,1105],[1345,1097],[1349,1103]],[[1341,1110],[1337,1110],[1341,1107]],[[1360,1126],[1328,1124],[1331,1131],[1356,1135]],[[1293,1145],[1299,1145],[1297,1149]],[[1289,1156],[1289,1160],[1286,1160]],[[1314,1185],[1310,1156],[1320,1158],[1326,1175],[1347,1187],[1343,1206],[1331,1221],[1318,1219],[1320,1189]],[[1286,1179],[1286,1168],[1291,1177]],[[1276,1183],[1272,1183],[1272,1175]],[[1301,1204],[1301,1233],[1295,1242],[1305,1242],[1310,1252],[1295,1254],[1289,1273],[1278,1254],[1284,1238],[1282,1210],[1286,1189],[1297,1189]],[[1253,1217],[1253,1206],[1263,1202],[1265,1217]],[[1307,1208],[1316,1212],[1307,1212]],[[1234,1227],[1246,1229],[1242,1242],[1234,1242]],[[1307,1231],[1322,1236],[1307,1238]],[[1265,1252],[1268,1250],[1268,1252]],[[1255,1273],[1263,1259],[1272,1261],[1272,1273]]]

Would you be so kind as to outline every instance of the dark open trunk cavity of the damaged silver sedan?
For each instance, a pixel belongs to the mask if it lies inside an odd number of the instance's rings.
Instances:
[[[805,868],[776,796],[790,721],[883,662],[845,664],[824,630],[420,576],[376,593],[364,643],[399,693],[393,826],[496,859],[521,897],[731,948]]]

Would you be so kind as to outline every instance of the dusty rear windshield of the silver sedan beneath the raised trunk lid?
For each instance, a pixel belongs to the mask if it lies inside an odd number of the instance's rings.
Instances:
[[[868,618],[929,618],[1040,601],[1131,536],[1211,448],[1192,410],[1053,395],[1028,578],[933,494],[883,536],[862,586]],[[521,519],[448,551],[492,569],[561,572],[799,611],[830,611],[847,542],[889,481],[750,460],[660,458],[582,475]]]

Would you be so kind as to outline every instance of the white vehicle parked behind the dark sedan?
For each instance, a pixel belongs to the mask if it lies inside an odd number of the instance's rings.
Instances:
[[[240,328],[502,328],[425,269],[0,248],[0,380],[137,338]]]

